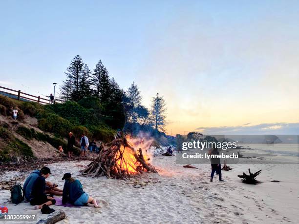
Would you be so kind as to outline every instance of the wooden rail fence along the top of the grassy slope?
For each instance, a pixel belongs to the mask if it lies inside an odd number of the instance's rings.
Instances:
[[[21,92],[21,90],[9,89],[3,86],[0,86],[0,94],[7,96],[9,98],[16,99],[18,101],[29,101],[29,102],[31,101],[31,102],[38,102],[41,104],[50,103],[49,99],[42,98],[41,96],[34,96],[28,93]],[[57,98],[55,99],[55,103],[60,103],[60,102],[62,102],[60,99]]]

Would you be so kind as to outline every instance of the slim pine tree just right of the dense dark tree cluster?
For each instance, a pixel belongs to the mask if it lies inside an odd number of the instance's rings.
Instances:
[[[140,91],[137,85],[133,82],[130,87],[128,87],[128,119],[131,123],[137,122],[137,108],[141,104],[142,97],[140,96]]]

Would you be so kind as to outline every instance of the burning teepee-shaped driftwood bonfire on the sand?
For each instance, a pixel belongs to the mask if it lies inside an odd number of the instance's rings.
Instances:
[[[132,173],[157,173],[149,160],[144,158],[142,149],[135,150],[125,137],[107,143],[107,149],[82,171],[86,176],[107,176],[107,178],[128,179]]]

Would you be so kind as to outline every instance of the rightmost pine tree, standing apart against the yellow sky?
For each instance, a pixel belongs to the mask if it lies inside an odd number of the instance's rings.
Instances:
[[[155,125],[155,129],[160,129],[164,131],[165,126],[165,112],[166,112],[166,102],[163,97],[159,97],[157,93],[156,97],[152,98],[152,105],[151,105],[151,115],[153,119],[153,123]]]

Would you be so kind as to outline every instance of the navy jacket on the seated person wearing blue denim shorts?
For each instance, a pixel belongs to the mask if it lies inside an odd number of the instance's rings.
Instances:
[[[62,203],[66,204],[67,202],[70,202],[71,204],[74,204],[74,202],[76,202],[76,200],[84,193],[82,184],[79,180],[75,180],[73,183],[65,180]]]

